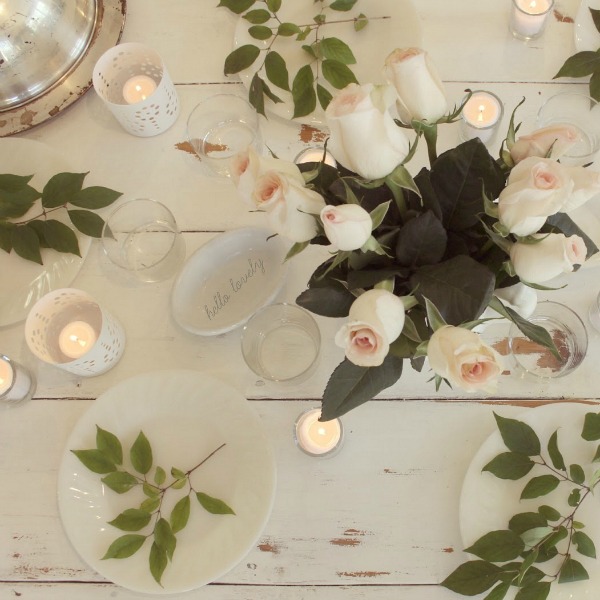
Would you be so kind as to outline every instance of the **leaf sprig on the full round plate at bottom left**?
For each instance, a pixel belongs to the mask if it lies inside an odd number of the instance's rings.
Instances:
[[[190,475],[212,458],[225,444],[213,450],[195,467],[187,471],[171,467],[170,479],[160,466],[154,466],[150,442],[140,431],[129,450],[133,472],[123,467],[123,446],[117,436],[96,425],[96,447],[87,450],[71,450],[90,471],[104,475],[102,483],[117,494],[141,488],[145,499],[135,507],[119,514],[109,525],[126,531],[108,548],[102,560],[133,556],[146,542],[152,540],[148,558],[150,573],[160,585],[162,575],[177,546],[177,536],[190,518],[191,497],[211,514],[235,515],[223,500],[198,491],[192,486]],[[151,474],[152,473],[152,474]],[[170,514],[164,514],[163,501],[169,490],[185,489],[185,495],[174,505]],[[140,533],[135,533],[140,532]]]

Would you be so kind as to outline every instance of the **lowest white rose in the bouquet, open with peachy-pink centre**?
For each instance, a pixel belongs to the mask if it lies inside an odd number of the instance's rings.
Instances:
[[[427,358],[433,371],[467,392],[496,389],[502,359],[473,331],[445,325],[429,340]]]

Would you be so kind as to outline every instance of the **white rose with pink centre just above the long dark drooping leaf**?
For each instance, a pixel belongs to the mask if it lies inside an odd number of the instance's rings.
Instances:
[[[377,367],[402,333],[404,304],[391,292],[369,290],[352,303],[348,319],[337,332],[335,343],[345,349],[346,358],[355,365]]]

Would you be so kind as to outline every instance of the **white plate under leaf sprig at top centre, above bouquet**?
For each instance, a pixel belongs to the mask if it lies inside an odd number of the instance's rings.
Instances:
[[[278,14],[282,21],[304,24],[312,23],[313,16],[318,12],[318,5],[313,0],[295,0],[294,2],[284,2]],[[362,31],[354,31],[352,23],[326,25],[321,31],[323,35],[337,37],[350,46],[356,58],[356,64],[351,65],[351,69],[360,83],[383,83],[383,64],[390,52],[396,48],[421,45],[419,17],[410,0],[378,0],[377,2],[358,0],[351,11],[327,11],[327,16],[330,21],[334,21],[353,18],[361,12],[372,19]],[[378,20],[375,17],[389,18]],[[234,32],[234,47],[254,44],[266,48],[270,40],[261,42],[253,39],[248,33],[248,27],[248,21],[240,18]],[[309,36],[303,43],[310,44],[311,42]],[[293,37],[280,37],[273,45],[273,49],[277,50],[286,61],[290,74],[290,85],[298,69],[306,64],[307,55],[301,46],[302,44]],[[240,73],[246,89],[250,88],[252,77],[260,64],[261,62],[257,60],[248,69]],[[323,80],[321,83],[331,93],[335,93],[335,89],[326,81]],[[276,104],[267,99],[265,106],[269,112],[283,119],[291,119],[294,114],[291,93],[285,92],[270,83],[269,87],[283,100],[283,102]],[[322,123],[324,114],[318,102],[317,109],[312,114],[296,119],[296,121],[300,123]]]

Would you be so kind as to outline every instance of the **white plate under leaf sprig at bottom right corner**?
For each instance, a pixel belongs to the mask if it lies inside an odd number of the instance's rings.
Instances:
[[[581,438],[585,414],[588,412],[598,413],[600,406],[572,402],[547,404],[528,409],[515,418],[534,429],[546,456],[548,439],[558,429],[558,445],[565,463],[577,463],[585,469],[591,465],[597,446]],[[567,505],[570,488],[567,489],[564,484],[547,496],[519,500],[523,487],[531,477],[549,473],[543,467],[534,467],[528,476],[518,481],[498,479],[489,472],[482,473],[483,467],[502,452],[507,452],[507,448],[496,430],[478,450],[467,470],[460,497],[460,530],[465,548],[489,531],[507,529],[508,521],[517,513],[536,512],[542,504],[562,510],[563,514],[569,514],[572,510]],[[585,500],[577,511],[577,520],[585,524],[584,531],[594,540],[596,547],[600,547],[600,510],[597,496]],[[598,561],[577,552],[573,553],[573,557],[585,566],[590,579],[562,585],[553,584],[549,600],[596,600],[600,597]],[[549,561],[540,568],[551,572],[554,566],[555,563]]]

